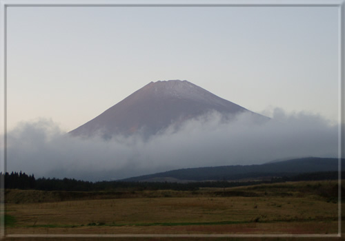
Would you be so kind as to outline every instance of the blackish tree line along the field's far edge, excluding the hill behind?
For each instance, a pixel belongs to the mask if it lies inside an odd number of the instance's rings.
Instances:
[[[345,171],[342,171],[342,177],[345,177]],[[84,180],[75,180],[74,178],[34,178],[34,174],[12,172],[3,174],[0,172],[1,182],[4,182],[5,189],[36,189],[43,191],[112,191],[112,190],[177,190],[177,191],[195,191],[200,187],[239,187],[247,185],[256,185],[262,183],[300,181],[300,180],[336,180],[337,171],[323,171],[306,174],[295,174],[291,176],[273,177],[270,180],[242,180],[231,181],[221,179],[204,182],[125,182],[125,181],[101,181],[89,182]]]

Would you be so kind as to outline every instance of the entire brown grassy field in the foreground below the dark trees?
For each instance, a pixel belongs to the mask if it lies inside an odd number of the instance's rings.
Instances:
[[[9,190],[5,213],[6,235],[335,234],[337,216],[336,181],[199,191]]]

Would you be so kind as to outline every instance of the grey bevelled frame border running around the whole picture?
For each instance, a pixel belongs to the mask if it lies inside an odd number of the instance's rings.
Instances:
[[[338,8],[338,233],[335,234],[10,234],[4,226],[4,180],[0,180],[0,238],[339,238],[342,237],[342,163],[345,158],[345,0],[0,0],[0,171],[7,161],[7,9],[8,7],[337,7]],[[3,54],[1,54],[1,52]],[[0,95],[1,95],[0,94]]]

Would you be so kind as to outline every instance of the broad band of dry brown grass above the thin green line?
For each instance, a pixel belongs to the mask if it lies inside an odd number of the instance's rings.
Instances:
[[[310,198],[124,198],[8,204],[16,226],[332,220],[337,204]]]

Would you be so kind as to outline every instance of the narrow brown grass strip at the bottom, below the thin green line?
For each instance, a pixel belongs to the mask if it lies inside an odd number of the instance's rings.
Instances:
[[[77,228],[8,228],[10,233],[43,233],[43,234],[313,234],[337,233],[336,222],[274,222],[226,225],[190,225],[190,226],[148,226],[148,227],[77,227]]]

